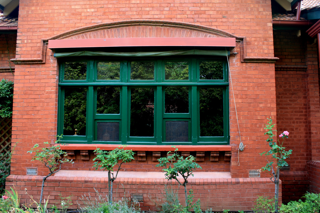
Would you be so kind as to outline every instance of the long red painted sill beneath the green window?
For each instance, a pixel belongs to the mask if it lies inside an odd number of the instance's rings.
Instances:
[[[104,150],[113,150],[117,148],[117,144],[68,144],[60,145],[62,150],[95,150],[96,148]],[[202,145],[202,146],[175,146],[179,151],[231,151],[230,145]],[[148,146],[148,145],[128,145],[124,149],[132,149],[132,151],[174,151],[171,145],[164,146]]]

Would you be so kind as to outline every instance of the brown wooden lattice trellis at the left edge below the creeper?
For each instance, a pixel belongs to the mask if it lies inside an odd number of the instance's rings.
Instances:
[[[6,160],[9,155],[7,153],[11,152],[11,133],[12,133],[12,118],[0,118],[0,164],[3,172],[6,169],[9,169],[10,164],[6,164]],[[2,167],[4,165],[4,167]],[[0,190],[4,186],[0,185]]]

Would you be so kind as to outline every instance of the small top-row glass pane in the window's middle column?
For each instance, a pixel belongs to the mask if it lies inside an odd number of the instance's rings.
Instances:
[[[130,79],[131,80],[154,80],[155,79],[155,62],[130,62]]]

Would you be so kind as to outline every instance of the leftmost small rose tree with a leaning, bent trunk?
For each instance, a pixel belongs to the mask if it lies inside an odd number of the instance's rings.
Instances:
[[[31,161],[37,160],[44,164],[45,167],[48,168],[49,174],[42,179],[42,187],[40,194],[40,202],[42,201],[43,189],[44,189],[44,181],[50,177],[52,174],[60,171],[61,165],[64,163],[74,163],[72,160],[67,159],[67,153],[60,149],[60,140],[62,135],[57,136],[58,139],[54,142],[54,144],[49,144],[49,142],[44,142],[44,147],[40,148],[39,144],[35,144],[30,151],[30,154],[35,152],[35,156],[33,156]]]

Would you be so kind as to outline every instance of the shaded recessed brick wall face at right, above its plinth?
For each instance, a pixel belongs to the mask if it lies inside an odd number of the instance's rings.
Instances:
[[[276,66],[306,66],[306,37],[295,31],[274,31]],[[291,171],[306,171],[308,150],[308,106],[306,71],[276,69],[278,133],[288,131],[284,147],[297,150],[287,160]]]

